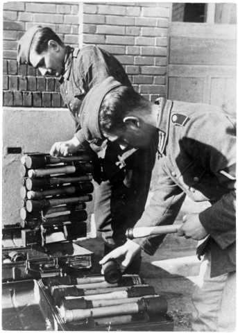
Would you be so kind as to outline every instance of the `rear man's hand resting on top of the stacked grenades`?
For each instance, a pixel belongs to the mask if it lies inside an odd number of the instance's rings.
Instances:
[[[80,142],[76,137],[65,141],[55,142],[49,151],[51,156],[68,156],[74,154],[80,148]]]

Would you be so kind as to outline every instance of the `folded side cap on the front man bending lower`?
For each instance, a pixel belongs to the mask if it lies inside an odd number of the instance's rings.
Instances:
[[[103,134],[99,128],[101,103],[108,92],[121,85],[112,76],[109,76],[99,85],[92,87],[85,96],[80,108],[80,124],[88,142],[96,144],[103,139]]]

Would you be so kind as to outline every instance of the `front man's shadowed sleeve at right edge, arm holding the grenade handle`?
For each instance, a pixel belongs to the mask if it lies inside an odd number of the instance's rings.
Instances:
[[[236,123],[228,114],[203,114],[189,126],[182,140],[187,152],[227,189],[220,200],[199,214],[207,232],[221,248],[236,239]]]

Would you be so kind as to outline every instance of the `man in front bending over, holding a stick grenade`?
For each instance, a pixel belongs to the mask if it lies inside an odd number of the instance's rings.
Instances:
[[[158,182],[135,227],[172,224],[186,195],[210,203],[199,214],[185,215],[178,230],[178,236],[201,242],[197,253],[203,256],[192,299],[192,329],[235,331],[235,117],[201,103],[160,98],[151,103],[110,77],[87,94],[81,124],[89,142],[107,138],[122,148],[146,149],[158,137]],[[116,258],[125,269],[137,251],[153,255],[163,239],[128,239],[100,264]]]

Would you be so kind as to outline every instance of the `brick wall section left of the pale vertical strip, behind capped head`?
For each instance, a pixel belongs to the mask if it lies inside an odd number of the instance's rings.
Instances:
[[[78,3],[3,3],[3,105],[63,106],[58,79],[43,77],[27,65],[17,65],[17,41],[33,25],[49,26],[61,40],[78,46]]]

